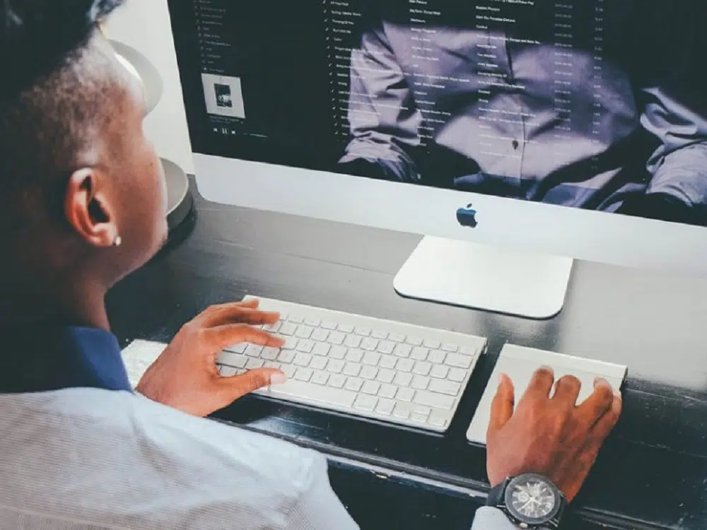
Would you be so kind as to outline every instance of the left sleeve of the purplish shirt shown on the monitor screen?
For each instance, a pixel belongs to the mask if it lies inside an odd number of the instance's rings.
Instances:
[[[405,149],[421,144],[422,114],[382,25],[364,33],[351,52],[348,117],[353,139],[341,163],[366,160],[399,181],[419,181]]]

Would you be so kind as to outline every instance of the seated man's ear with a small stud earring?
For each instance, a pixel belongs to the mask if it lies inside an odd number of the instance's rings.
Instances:
[[[101,184],[105,175],[88,167],[69,178],[64,196],[64,215],[76,233],[95,247],[110,247],[118,236],[115,211]]]

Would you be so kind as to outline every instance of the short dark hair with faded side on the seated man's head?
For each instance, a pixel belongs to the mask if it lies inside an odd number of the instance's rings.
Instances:
[[[95,37],[122,3],[0,0],[0,230],[62,215],[68,177],[115,95],[115,64]]]

